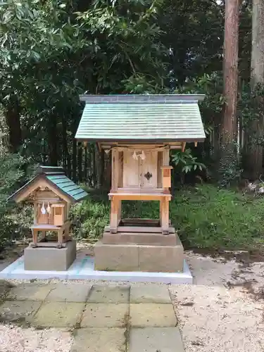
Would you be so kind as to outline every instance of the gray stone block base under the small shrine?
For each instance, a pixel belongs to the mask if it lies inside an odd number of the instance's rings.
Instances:
[[[65,271],[76,258],[76,241],[69,241],[64,248],[28,246],[25,249],[25,270]]]

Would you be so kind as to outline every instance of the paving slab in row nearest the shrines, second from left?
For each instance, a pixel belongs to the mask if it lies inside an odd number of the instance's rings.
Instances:
[[[55,302],[86,302],[89,291],[92,289],[92,284],[80,284],[80,283],[63,283],[58,282],[51,289],[46,301]]]

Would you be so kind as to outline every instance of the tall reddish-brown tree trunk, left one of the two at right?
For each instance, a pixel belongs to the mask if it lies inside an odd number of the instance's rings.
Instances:
[[[220,173],[237,161],[237,80],[239,49],[239,0],[225,1],[223,58],[224,99],[220,128]],[[234,163],[234,164],[233,164]]]

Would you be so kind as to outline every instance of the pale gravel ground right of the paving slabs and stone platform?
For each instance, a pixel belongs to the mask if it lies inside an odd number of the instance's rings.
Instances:
[[[194,285],[170,287],[186,352],[263,352],[264,263],[187,260]]]

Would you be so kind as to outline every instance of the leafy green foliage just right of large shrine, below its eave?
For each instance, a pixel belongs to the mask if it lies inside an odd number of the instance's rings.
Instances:
[[[175,151],[172,154],[172,163],[174,163],[177,168],[180,168],[181,172],[185,173],[206,169],[206,165],[199,163],[197,158],[191,155],[191,149],[185,149],[185,151]]]

